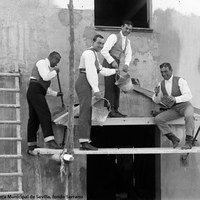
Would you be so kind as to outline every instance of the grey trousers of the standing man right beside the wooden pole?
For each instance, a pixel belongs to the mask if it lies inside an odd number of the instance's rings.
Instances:
[[[92,88],[85,73],[80,73],[75,83],[79,100],[79,138],[90,139],[92,116]]]

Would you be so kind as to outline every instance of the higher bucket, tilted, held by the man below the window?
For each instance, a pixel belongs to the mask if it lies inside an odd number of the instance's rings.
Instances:
[[[128,92],[134,88],[131,77],[128,73],[123,76],[119,74],[119,79],[115,81],[115,85],[117,85],[123,92]]]

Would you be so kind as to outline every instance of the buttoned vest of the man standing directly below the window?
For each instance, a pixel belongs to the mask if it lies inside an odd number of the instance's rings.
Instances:
[[[109,51],[110,55],[117,59],[120,60],[120,58],[125,54],[126,47],[127,47],[127,38],[125,40],[125,48],[124,50],[122,49],[122,37],[121,34],[116,34],[117,36],[117,42],[114,44],[114,46],[111,48]]]

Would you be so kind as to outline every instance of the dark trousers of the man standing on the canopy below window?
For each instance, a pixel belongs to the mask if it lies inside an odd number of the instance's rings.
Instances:
[[[103,60],[102,66],[105,68],[113,69],[113,67],[109,65],[105,59]],[[104,77],[104,84],[105,84],[104,97],[107,100],[109,100],[112,109],[117,110],[119,108],[120,89],[117,85],[115,85],[115,81],[116,81],[116,74]]]

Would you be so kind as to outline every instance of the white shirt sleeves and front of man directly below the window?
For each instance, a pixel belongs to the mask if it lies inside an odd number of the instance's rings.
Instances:
[[[121,37],[122,37],[122,49],[124,50],[126,37],[122,34],[122,31],[120,31],[120,34],[121,34]],[[103,55],[103,57],[107,60],[107,62],[109,64],[114,61],[114,58],[110,55],[109,51],[115,45],[116,42],[117,42],[117,35],[111,34],[107,38],[107,40],[104,44],[104,47],[101,50],[101,54]],[[132,58],[131,44],[130,44],[130,40],[127,39],[127,46],[126,46],[126,50],[125,50],[125,65],[129,66],[129,64],[131,62],[131,58]]]

